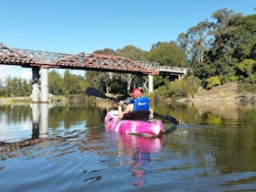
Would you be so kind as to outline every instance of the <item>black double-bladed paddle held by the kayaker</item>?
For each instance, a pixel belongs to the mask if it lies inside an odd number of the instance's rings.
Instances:
[[[118,101],[112,97],[108,97],[105,92],[97,90],[95,88],[87,88],[85,91],[86,94],[90,95],[90,96],[94,96],[94,97],[99,97],[101,99],[104,100],[112,100],[112,101]],[[125,103],[125,102],[124,102]],[[125,103],[127,104],[127,103]],[[176,121],[176,118],[172,117],[172,116],[168,116],[168,115],[160,115],[154,112],[155,116],[161,117],[163,119],[165,119],[166,121],[170,122],[170,123],[174,123],[174,124],[178,124],[178,122]]]

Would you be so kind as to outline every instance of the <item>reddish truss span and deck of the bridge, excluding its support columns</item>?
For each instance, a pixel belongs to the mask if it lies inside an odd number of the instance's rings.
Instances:
[[[189,70],[187,68],[159,66],[156,62],[146,63],[94,53],[80,52],[71,55],[24,48],[9,48],[2,43],[0,43],[0,65],[17,65],[24,68],[98,70],[138,75],[158,75],[159,73],[186,75]]]

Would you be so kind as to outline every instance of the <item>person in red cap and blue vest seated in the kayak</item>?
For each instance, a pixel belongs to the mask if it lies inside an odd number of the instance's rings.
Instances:
[[[122,110],[123,101],[118,103],[118,118],[125,120],[148,120],[150,101],[143,96],[141,88],[133,89],[133,99],[128,106]]]

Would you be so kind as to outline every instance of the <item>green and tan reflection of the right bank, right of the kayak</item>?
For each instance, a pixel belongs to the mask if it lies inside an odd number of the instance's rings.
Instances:
[[[223,124],[256,119],[256,107],[251,103],[231,101],[157,102],[155,112],[176,117],[180,123]],[[256,126],[256,121],[250,122]]]

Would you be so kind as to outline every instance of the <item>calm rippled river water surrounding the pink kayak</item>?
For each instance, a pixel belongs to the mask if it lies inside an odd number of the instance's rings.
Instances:
[[[256,191],[256,106],[167,102],[162,138],[108,133],[111,102],[0,105],[0,190]]]

